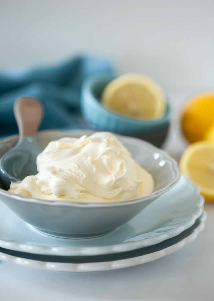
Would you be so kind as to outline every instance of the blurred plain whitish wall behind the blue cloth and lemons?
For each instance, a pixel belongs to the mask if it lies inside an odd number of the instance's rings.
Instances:
[[[92,54],[164,88],[207,88],[213,31],[213,0],[0,0],[0,71]]]

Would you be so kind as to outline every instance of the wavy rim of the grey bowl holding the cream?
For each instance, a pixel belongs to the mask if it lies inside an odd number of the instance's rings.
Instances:
[[[58,130],[58,129],[51,129],[51,130],[41,130],[38,131],[39,135],[48,135],[50,133],[57,133],[57,134],[62,134],[62,133],[81,133],[82,135],[91,135],[93,133],[96,133],[97,131],[92,131],[92,130],[85,130],[85,129],[74,129],[74,130]],[[162,154],[162,156],[164,157],[164,159],[168,159],[169,161],[171,161],[172,163],[172,169],[175,173],[174,178],[167,183],[163,188],[159,189],[158,191],[154,191],[152,193],[150,193],[149,195],[145,195],[145,196],[140,196],[138,198],[133,198],[133,199],[129,199],[129,200],[123,200],[123,201],[110,201],[110,202],[97,202],[97,203],[81,203],[81,202],[73,202],[73,201],[64,201],[64,200],[43,200],[43,199],[36,199],[33,197],[27,197],[27,196],[23,196],[23,195],[16,195],[13,194],[7,190],[4,190],[2,188],[0,188],[0,200],[1,200],[1,195],[4,195],[6,197],[11,197],[11,201],[21,201],[21,202],[30,202],[30,203],[38,203],[38,204],[45,204],[45,205],[54,205],[54,206],[67,206],[67,207],[78,207],[78,208],[100,208],[100,207],[118,207],[118,206],[125,206],[125,205],[133,205],[133,204],[137,204],[140,202],[144,202],[147,200],[152,200],[152,199],[156,199],[158,198],[158,196],[162,195],[163,193],[167,192],[168,190],[170,190],[173,186],[175,186],[178,181],[180,180],[181,174],[179,172],[179,168],[178,168],[178,164],[177,161],[172,158],[171,155],[169,155],[165,150],[160,149],[156,146],[154,146],[153,144],[142,140],[140,138],[136,138],[136,137],[130,137],[130,136],[124,136],[121,134],[115,134],[113,133],[117,138],[122,138],[122,139],[129,139],[138,143],[143,144],[144,146],[150,148],[151,150],[153,150],[153,152],[158,152],[160,154]],[[79,135],[79,134],[78,134]],[[80,137],[81,137],[80,136]],[[10,141],[11,139],[15,139],[18,138],[19,135],[15,134],[15,135],[11,135],[8,137],[4,137],[2,139],[0,139],[0,145],[2,144],[2,142],[4,141]],[[66,137],[66,136],[64,136]]]

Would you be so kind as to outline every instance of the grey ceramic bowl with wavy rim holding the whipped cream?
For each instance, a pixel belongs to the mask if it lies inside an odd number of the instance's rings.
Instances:
[[[39,146],[44,149],[52,140],[92,133],[88,130],[41,131],[37,138]],[[165,151],[137,138],[120,135],[117,137],[132,153],[133,158],[153,175],[155,188],[150,195],[113,203],[83,204],[15,195],[4,190],[3,184],[0,183],[0,200],[25,222],[48,235],[83,238],[103,235],[114,230],[171,189],[180,178],[176,161]],[[0,157],[17,140],[18,135],[0,140]]]

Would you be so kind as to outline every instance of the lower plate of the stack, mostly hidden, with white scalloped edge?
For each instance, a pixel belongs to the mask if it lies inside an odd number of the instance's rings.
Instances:
[[[96,272],[131,267],[172,254],[196,239],[204,228],[206,213],[181,234],[157,245],[118,254],[64,257],[37,255],[0,248],[0,259],[26,267],[61,272]]]

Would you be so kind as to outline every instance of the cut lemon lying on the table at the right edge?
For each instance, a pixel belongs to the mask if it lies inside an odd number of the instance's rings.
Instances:
[[[179,167],[181,173],[198,185],[206,200],[214,201],[214,143],[201,141],[187,146]]]

